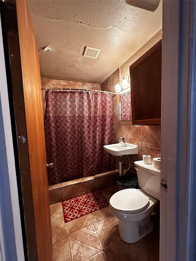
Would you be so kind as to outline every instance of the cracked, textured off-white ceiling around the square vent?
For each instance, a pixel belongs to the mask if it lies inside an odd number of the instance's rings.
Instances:
[[[162,28],[155,12],[125,1],[28,0],[42,77],[102,83]],[[50,44],[52,51],[43,49]],[[81,47],[100,48],[96,59]]]

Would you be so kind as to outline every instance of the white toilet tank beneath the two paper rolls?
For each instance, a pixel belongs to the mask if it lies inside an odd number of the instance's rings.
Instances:
[[[160,200],[160,170],[153,163],[145,164],[143,160],[135,161],[139,187],[150,196]]]

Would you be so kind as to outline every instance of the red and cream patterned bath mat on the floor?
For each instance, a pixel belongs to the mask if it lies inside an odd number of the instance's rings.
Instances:
[[[62,202],[64,221],[69,222],[108,205],[109,203],[99,190],[68,199]]]

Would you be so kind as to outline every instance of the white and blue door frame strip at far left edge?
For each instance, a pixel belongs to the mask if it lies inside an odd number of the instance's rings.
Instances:
[[[0,260],[25,260],[0,19]],[[5,218],[6,217],[6,218]]]

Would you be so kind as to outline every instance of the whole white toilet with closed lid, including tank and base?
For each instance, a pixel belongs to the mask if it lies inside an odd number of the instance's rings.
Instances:
[[[160,170],[143,160],[134,164],[140,189],[120,190],[109,204],[111,213],[119,219],[119,235],[127,243],[137,242],[153,231],[150,214],[160,200]]]

